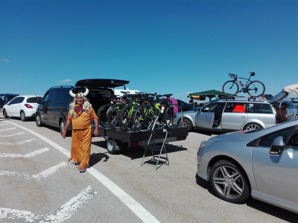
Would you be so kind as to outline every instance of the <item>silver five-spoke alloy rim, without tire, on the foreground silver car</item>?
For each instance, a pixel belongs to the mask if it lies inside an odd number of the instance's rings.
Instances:
[[[243,178],[232,167],[218,167],[213,174],[213,183],[218,193],[226,198],[235,199],[243,193]]]

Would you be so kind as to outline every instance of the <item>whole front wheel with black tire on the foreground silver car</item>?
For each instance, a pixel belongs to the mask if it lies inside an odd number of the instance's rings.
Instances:
[[[210,184],[215,194],[231,203],[242,203],[249,197],[249,186],[243,173],[229,161],[221,160],[211,167]]]

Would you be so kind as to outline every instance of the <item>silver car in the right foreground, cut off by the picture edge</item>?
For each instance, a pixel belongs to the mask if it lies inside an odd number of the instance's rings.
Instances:
[[[197,176],[228,202],[254,199],[298,213],[298,119],[201,142]]]

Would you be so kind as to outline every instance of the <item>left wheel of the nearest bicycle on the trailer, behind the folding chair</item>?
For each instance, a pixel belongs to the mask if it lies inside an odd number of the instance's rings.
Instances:
[[[153,127],[156,114],[151,105],[141,105],[134,112],[134,127],[142,132]]]

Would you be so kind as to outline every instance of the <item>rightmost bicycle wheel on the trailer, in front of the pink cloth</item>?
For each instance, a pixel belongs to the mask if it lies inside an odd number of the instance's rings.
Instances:
[[[183,111],[177,104],[172,104],[166,108],[163,114],[163,121],[168,128],[178,128],[183,120]]]

